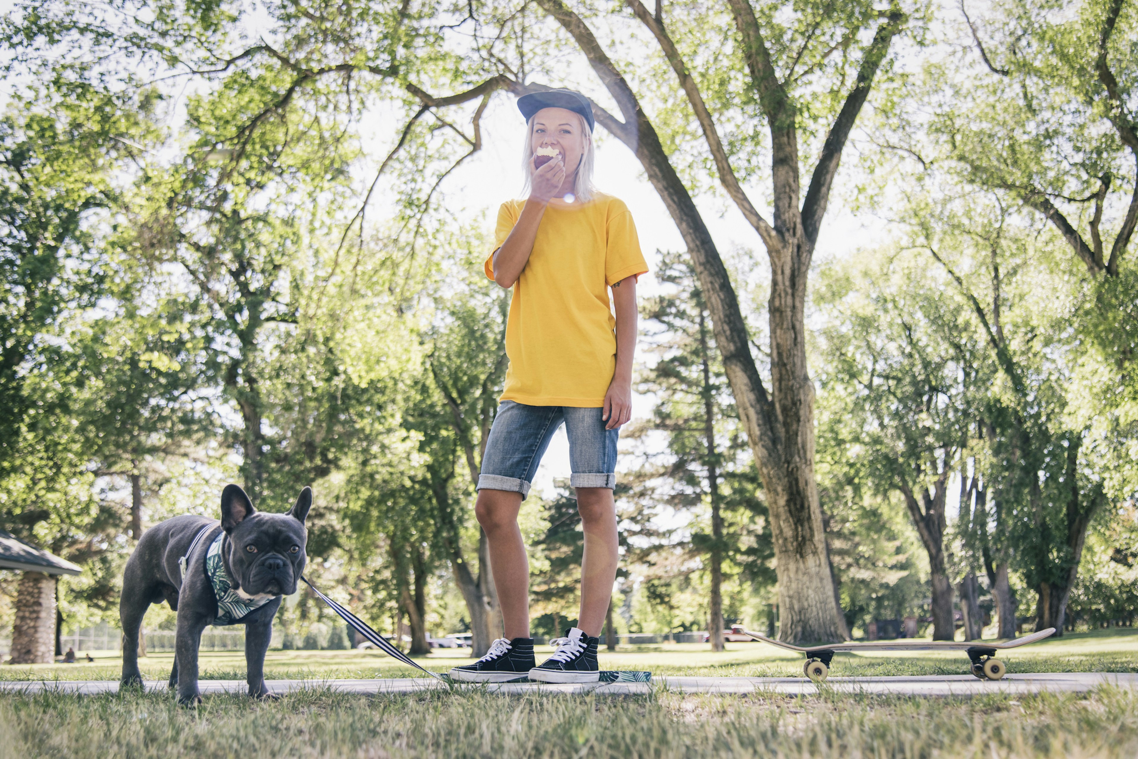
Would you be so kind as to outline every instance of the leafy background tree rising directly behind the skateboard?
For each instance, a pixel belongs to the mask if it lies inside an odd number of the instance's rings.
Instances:
[[[875,253],[827,286],[823,386],[842,397],[840,435],[860,449],[849,463],[865,468],[882,495],[904,497],[929,554],[933,640],[951,641],[946,502],[990,364],[967,312],[912,255]]]

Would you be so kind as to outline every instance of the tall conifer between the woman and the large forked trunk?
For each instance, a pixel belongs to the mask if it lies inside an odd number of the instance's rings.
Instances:
[[[675,618],[674,596],[687,593],[690,575],[703,575],[699,596],[714,561],[725,562],[728,585],[737,581],[745,597],[748,589],[773,585],[773,548],[759,478],[695,273],[686,257],[665,253],[657,280],[668,289],[642,306],[646,350],[657,360],[638,382],[657,404],[651,420],[628,437],[643,445],[662,434],[667,448],[632,476],[629,508],[621,513],[630,527],[626,555],[644,564],[645,599],[667,620],[665,629],[703,628],[706,620]],[[744,616],[739,601],[725,602],[725,617]]]

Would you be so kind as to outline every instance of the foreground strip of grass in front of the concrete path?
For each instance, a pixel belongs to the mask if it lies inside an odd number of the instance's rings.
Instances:
[[[1133,757],[1138,696],[0,695],[0,759]]]

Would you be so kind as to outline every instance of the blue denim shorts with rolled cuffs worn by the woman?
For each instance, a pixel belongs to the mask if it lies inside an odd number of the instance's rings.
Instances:
[[[486,442],[478,489],[521,493],[522,498],[529,495],[537,465],[561,422],[569,436],[569,485],[615,488],[619,430],[604,429],[603,413],[600,407],[527,406],[503,401]]]

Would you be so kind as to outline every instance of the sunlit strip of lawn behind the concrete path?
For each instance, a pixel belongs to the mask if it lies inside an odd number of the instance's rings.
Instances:
[[[538,646],[538,659],[552,649]],[[467,663],[469,649],[437,649],[419,663],[446,671]],[[1138,673],[1138,629],[1115,628],[1075,633],[1001,653],[1012,673],[1112,671]],[[147,679],[166,679],[174,654],[152,653],[140,660]],[[723,653],[708,644],[621,646],[601,651],[603,669],[648,669],[655,675],[747,677],[801,677],[802,657],[761,643],[728,643]],[[874,655],[838,654],[833,676],[963,675],[964,652],[889,652]],[[118,679],[122,659],[96,657],[93,663],[0,667],[0,680]],[[378,651],[270,651],[265,660],[269,679],[325,679],[414,677],[417,670]],[[201,654],[203,679],[245,679],[245,654],[226,651]]]

